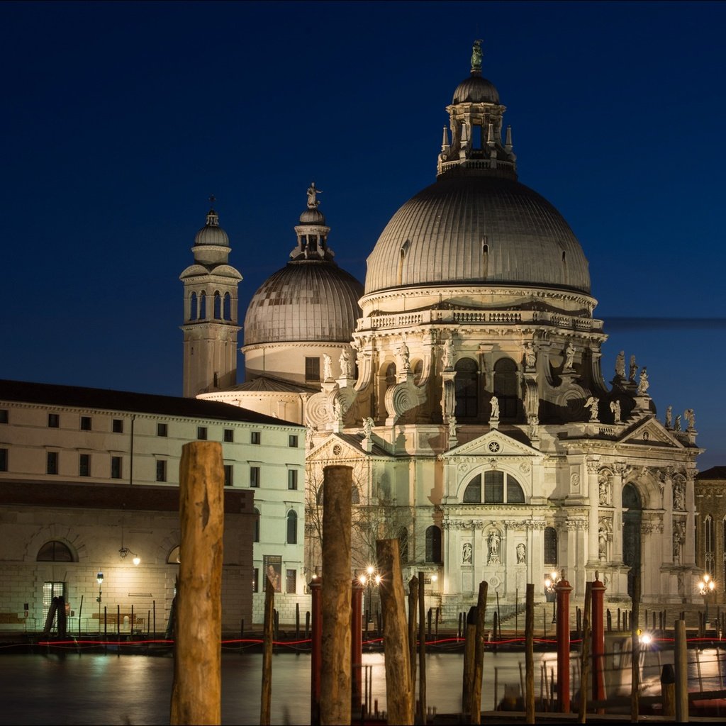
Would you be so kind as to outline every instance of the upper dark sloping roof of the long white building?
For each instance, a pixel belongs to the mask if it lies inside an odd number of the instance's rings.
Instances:
[[[107,388],[56,386],[52,383],[26,383],[20,380],[0,380],[0,401],[75,406],[87,409],[129,411],[165,416],[188,416],[246,423],[298,425],[256,411],[249,411],[239,406],[225,404],[221,401],[187,399],[181,396],[156,396],[152,393],[111,391]]]

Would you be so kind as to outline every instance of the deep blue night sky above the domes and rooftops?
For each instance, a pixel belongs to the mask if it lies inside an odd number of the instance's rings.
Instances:
[[[311,179],[362,280],[484,38],[520,180],[590,260],[605,378],[635,353],[661,420],[693,407],[701,468],[726,464],[726,4],[23,2],[0,24],[0,378],[180,394],[211,193],[241,317]]]

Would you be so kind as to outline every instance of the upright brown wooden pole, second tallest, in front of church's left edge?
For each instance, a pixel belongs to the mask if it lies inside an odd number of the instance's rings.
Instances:
[[[351,496],[353,470],[323,470],[320,723],[351,722]]]

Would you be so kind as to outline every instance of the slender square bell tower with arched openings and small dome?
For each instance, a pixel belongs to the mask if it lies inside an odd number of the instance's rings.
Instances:
[[[194,240],[194,264],[179,275],[184,283],[184,396],[237,383],[237,285],[242,275],[227,264],[229,252],[227,232],[211,208]]]

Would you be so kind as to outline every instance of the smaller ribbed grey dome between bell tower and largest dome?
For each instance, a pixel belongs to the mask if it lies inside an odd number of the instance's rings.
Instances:
[[[363,287],[334,262],[288,262],[257,290],[245,317],[245,346],[314,340],[348,343]]]

